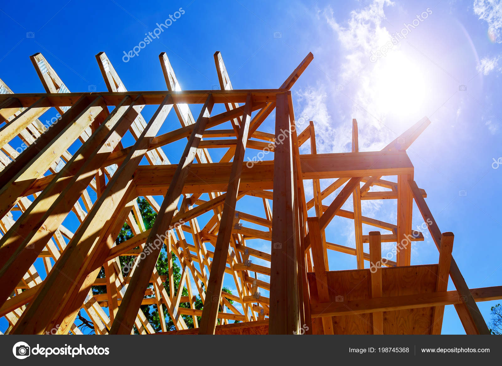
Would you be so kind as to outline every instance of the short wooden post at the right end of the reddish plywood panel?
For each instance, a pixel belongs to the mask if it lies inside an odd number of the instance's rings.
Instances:
[[[443,232],[441,235],[441,247],[439,249],[439,265],[436,280],[436,292],[448,289],[450,278],[451,252],[453,250],[453,232]],[[431,334],[441,334],[443,326],[444,306],[436,306],[432,312]]]

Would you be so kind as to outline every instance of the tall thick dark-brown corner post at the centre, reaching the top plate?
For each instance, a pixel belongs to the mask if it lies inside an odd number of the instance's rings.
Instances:
[[[287,94],[276,97],[269,334],[299,331],[293,154]]]

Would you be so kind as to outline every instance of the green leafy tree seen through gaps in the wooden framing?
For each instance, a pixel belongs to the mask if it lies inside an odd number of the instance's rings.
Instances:
[[[142,197],[138,198],[138,206],[140,208],[140,212],[143,217],[143,222],[145,224],[145,228],[148,230],[154,224],[155,218],[157,217],[157,212],[155,212],[154,209],[152,208],[152,206],[150,205],[150,203],[148,203],[148,201]],[[119,232],[118,237],[116,239],[116,243],[118,245],[119,243],[126,241],[126,240],[132,238],[133,236],[134,235],[131,230],[131,227],[127,223],[124,223],[122,228],[120,229],[120,232]],[[137,247],[136,249],[139,249],[139,247]],[[179,286],[180,279],[181,279],[181,269],[180,269],[180,266],[174,260],[175,254],[174,253],[171,253],[171,254],[172,254],[171,258],[172,258],[172,267],[173,267],[173,278],[174,278],[174,293],[177,294],[178,293],[178,286]],[[128,275],[128,273],[127,273],[128,270],[124,271],[124,268],[128,268],[127,264],[129,264],[131,261],[134,261],[134,260],[135,260],[135,256],[120,256],[119,257],[120,266],[122,269],[122,275],[124,277],[126,277]],[[169,276],[169,261],[168,261],[167,252],[164,248],[162,249],[162,251],[159,255],[159,259],[157,261],[156,267],[157,267],[157,271],[160,276]],[[104,276],[105,276],[104,275],[104,268],[101,268],[101,271],[99,271],[99,274],[98,274],[98,278],[104,278]],[[169,277],[166,279],[166,282],[164,282],[164,288],[166,289],[166,292],[168,293],[168,295],[171,295],[171,289],[169,286]],[[204,288],[203,288],[203,291],[205,292]],[[227,292],[229,294],[232,293],[226,287],[223,288],[223,291]],[[106,286],[92,286],[92,293],[94,295],[106,293]],[[186,287],[183,287],[182,295],[188,296],[188,290]],[[229,300],[229,302],[233,303],[232,300]],[[189,308],[190,304],[188,302],[187,303],[180,303],[179,306],[182,308]],[[194,302],[194,306],[195,306],[195,309],[198,309],[198,310],[201,310],[203,307],[202,300],[200,299],[200,296],[198,296],[198,295],[196,296],[196,301]],[[167,308],[166,308],[165,304],[163,304],[162,308],[164,310],[164,317],[166,319],[167,330],[175,330],[176,328],[174,326],[174,323],[173,323],[171,317],[169,316],[169,313],[167,312]],[[145,314],[145,317],[150,322],[150,324],[155,329],[155,331],[161,331],[162,327],[160,324],[159,309],[158,309],[157,305],[141,305],[141,310],[143,311],[143,313]],[[89,321],[87,318],[85,318],[80,313],[78,314],[78,317],[79,317],[80,321],[82,322],[82,324],[79,325],[79,328],[81,328],[82,330],[89,328],[90,332],[93,333],[94,332],[93,323],[91,321]],[[188,328],[194,327],[192,316],[182,315],[182,317],[183,317],[183,320],[185,321],[185,323],[187,324]],[[198,321],[200,321],[200,316],[198,316],[197,319],[198,319]],[[134,328],[134,330],[135,330],[135,333],[138,333],[138,330],[136,329],[136,327]]]

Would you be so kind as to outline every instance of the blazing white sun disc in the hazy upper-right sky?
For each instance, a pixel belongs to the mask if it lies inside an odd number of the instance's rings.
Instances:
[[[382,112],[409,116],[423,112],[427,93],[426,73],[402,52],[376,62],[372,80],[374,101]]]

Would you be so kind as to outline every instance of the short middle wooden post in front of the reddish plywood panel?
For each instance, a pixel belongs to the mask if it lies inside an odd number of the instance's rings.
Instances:
[[[382,297],[382,239],[380,231],[369,232],[369,271],[371,273],[371,298]],[[373,334],[384,334],[381,311],[371,313]]]

